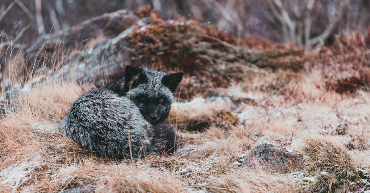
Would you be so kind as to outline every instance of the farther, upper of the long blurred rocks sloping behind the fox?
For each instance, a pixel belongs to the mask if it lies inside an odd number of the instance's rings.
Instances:
[[[81,49],[88,43],[86,40],[97,37],[102,37],[102,39],[115,37],[131,27],[137,20],[139,18],[134,14],[128,13],[126,10],[118,10],[93,17],[58,33],[43,35],[26,49],[27,63],[33,64],[37,68],[44,60],[55,54],[55,51]]]

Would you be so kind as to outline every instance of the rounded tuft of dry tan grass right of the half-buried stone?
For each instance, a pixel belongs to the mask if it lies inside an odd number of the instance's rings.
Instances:
[[[349,181],[359,176],[348,150],[327,136],[308,136],[302,151],[307,156],[304,159],[306,169],[316,175],[316,182],[309,186],[312,192],[346,189]]]

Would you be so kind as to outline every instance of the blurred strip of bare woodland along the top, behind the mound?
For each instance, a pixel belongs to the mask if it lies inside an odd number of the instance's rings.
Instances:
[[[319,38],[330,43],[334,34],[367,31],[370,23],[369,0],[2,0],[0,30],[3,41],[21,33],[17,42],[29,44],[44,33],[107,12],[135,11],[144,4],[166,18],[216,24],[235,37],[252,35],[297,45],[313,45]]]

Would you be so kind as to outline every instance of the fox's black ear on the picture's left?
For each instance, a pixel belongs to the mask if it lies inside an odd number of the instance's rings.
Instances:
[[[125,88],[124,92],[137,87],[137,85],[145,82],[147,77],[142,73],[141,69],[127,65],[125,68]]]

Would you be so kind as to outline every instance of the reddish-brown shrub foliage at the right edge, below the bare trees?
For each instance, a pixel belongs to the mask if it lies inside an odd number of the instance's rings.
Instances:
[[[354,32],[337,36],[332,46],[324,48],[317,63],[322,65],[326,89],[340,94],[369,89],[369,34]]]

